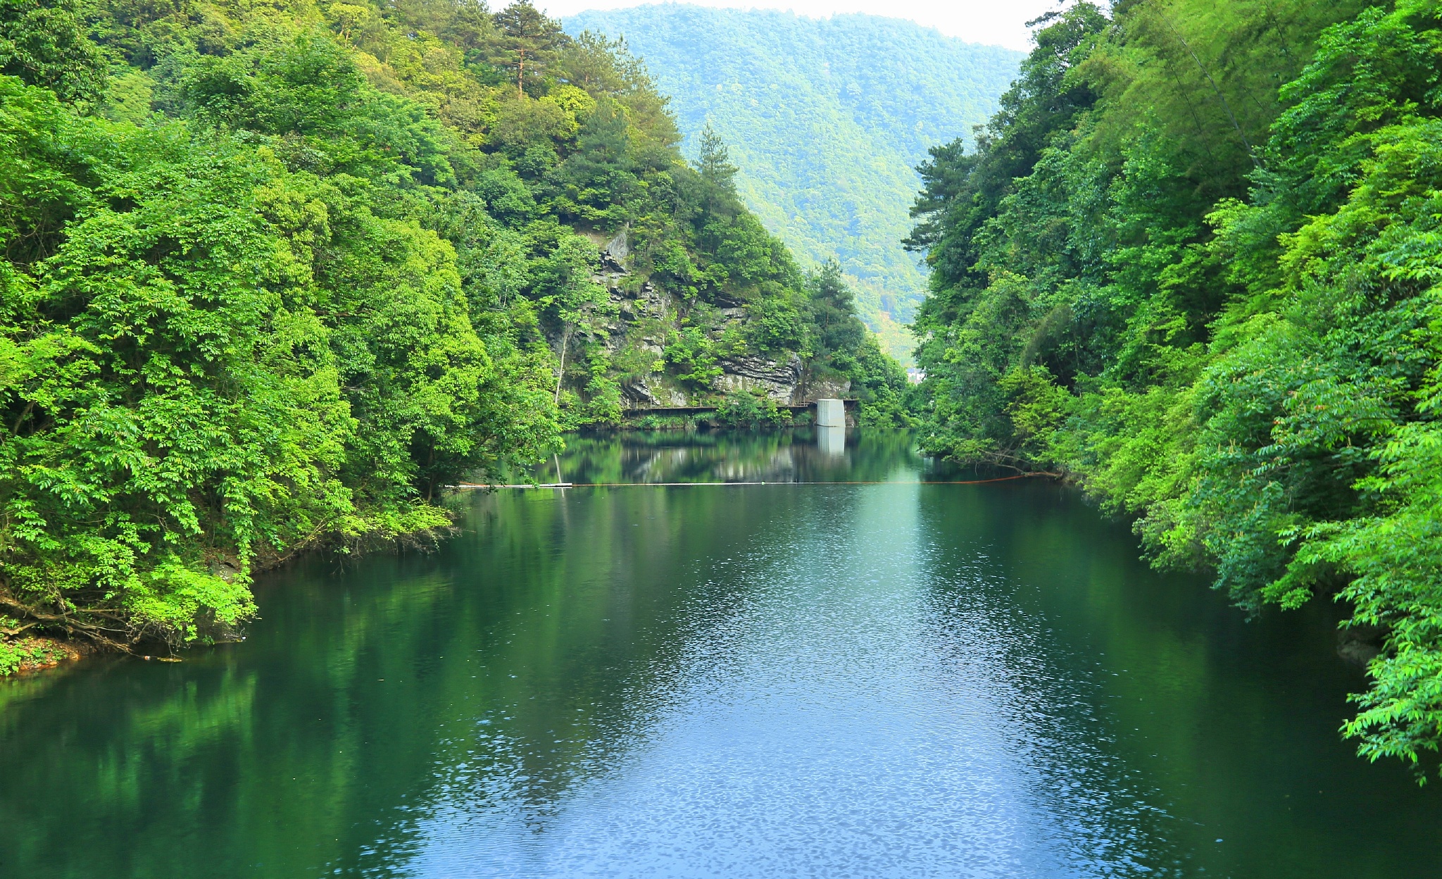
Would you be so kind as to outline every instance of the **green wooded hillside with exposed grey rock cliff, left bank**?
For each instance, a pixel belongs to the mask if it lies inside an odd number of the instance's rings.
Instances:
[[[904,385],[724,144],[525,3],[0,0],[0,673],[224,637],[258,566],[734,362]]]

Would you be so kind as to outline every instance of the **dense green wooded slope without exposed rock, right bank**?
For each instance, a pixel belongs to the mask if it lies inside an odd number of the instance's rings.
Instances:
[[[1243,608],[1337,598],[1345,732],[1442,743],[1442,3],[1082,3],[910,244],[926,443],[1063,471]],[[1376,652],[1380,648],[1380,652]]]

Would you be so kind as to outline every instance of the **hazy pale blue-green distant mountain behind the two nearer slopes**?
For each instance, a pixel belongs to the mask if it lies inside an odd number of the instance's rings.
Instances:
[[[738,189],[799,255],[841,261],[890,349],[926,290],[900,240],[934,143],[970,136],[996,108],[1019,53],[901,19],[806,19],[665,4],[585,12],[567,29],[624,36],[671,95],[684,150],[709,124],[730,144]]]

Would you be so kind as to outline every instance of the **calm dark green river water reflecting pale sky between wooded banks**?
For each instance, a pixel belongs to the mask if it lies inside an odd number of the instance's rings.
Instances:
[[[548,478],[767,485],[467,495],[265,576],[244,644],[0,681],[0,876],[1442,875],[1442,791],[1337,735],[1335,609],[833,452],[581,439]]]

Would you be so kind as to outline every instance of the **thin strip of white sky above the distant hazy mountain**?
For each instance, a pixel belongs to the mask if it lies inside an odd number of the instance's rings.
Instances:
[[[555,17],[587,9],[642,6],[646,0],[535,0]],[[1028,51],[1027,22],[1060,9],[1064,0],[696,0],[696,6],[734,9],[789,9],[802,16],[823,19],[833,13],[864,12],[874,16],[910,19],[936,27],[947,36],[970,43]]]

